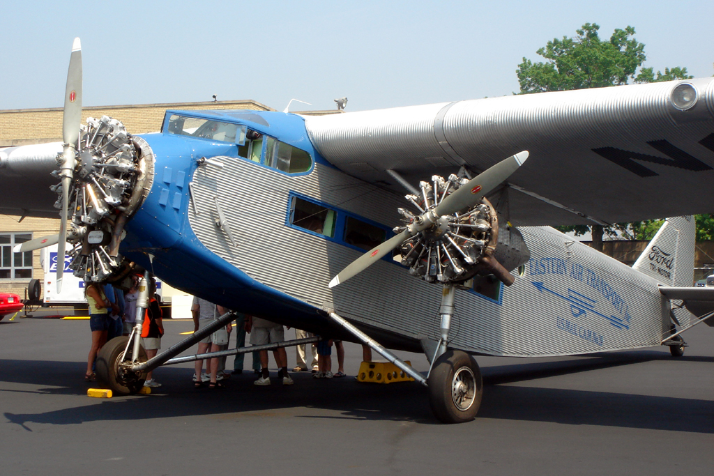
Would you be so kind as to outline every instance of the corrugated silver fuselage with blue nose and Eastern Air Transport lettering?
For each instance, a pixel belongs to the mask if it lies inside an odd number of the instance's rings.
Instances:
[[[331,278],[363,250],[291,226],[288,218],[297,195],[391,227],[403,198],[320,161],[298,176],[220,153],[222,168],[196,168],[206,151],[191,141],[169,157],[157,153],[169,139],[146,138],[154,144],[156,180],[128,227],[131,258],[148,265],[137,252],[151,250],[156,274],[171,285],[291,327],[334,332],[319,312],[333,308],[393,348],[420,350],[422,338],[438,340],[441,285],[381,260],[330,289]],[[216,226],[216,199],[236,246]],[[531,250],[523,274],[488,296],[457,291],[451,347],[528,357],[660,344],[668,303],[655,280],[553,228],[519,229]]]

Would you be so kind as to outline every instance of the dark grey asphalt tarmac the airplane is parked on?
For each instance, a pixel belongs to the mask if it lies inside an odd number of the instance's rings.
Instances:
[[[165,327],[168,348],[192,323]],[[297,373],[283,388],[273,372],[273,385],[263,388],[248,370],[226,389],[195,390],[187,363],[156,370],[164,385],[151,395],[98,399],[86,396],[83,380],[88,321],[3,320],[0,472],[711,475],[714,328],[703,324],[684,338],[690,347],[676,359],[667,348],[478,358],[478,417],[441,425],[418,383],[357,383],[361,347],[351,343],[348,378]],[[401,355],[428,369],[423,355]]]

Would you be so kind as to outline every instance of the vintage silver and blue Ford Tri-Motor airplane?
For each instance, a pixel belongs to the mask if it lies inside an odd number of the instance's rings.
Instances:
[[[690,288],[690,217],[666,221],[633,268],[546,227],[711,211],[714,79],[331,116],[166,111],[160,133],[140,136],[108,117],[80,128],[80,113],[77,39],[64,145],[0,151],[2,213],[61,211],[60,235],[23,250],[66,236],[86,280],[144,268],[227,308],[368,343],[428,386],[443,422],[478,411],[473,355],[680,355],[679,332],[714,308],[712,290]],[[205,333],[149,361],[138,335],[117,338],[101,377],[136,392]],[[428,375],[386,348],[423,351]]]

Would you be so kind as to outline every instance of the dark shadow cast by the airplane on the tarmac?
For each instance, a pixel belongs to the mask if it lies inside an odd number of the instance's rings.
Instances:
[[[660,359],[663,359],[663,353],[644,352],[488,367],[484,369],[484,398],[478,416],[565,425],[714,433],[714,402],[710,400],[501,385]],[[681,359],[714,362],[714,358],[696,356]],[[81,363],[0,360],[0,366],[3,368],[0,382],[43,386],[37,390],[4,392],[79,396],[85,395],[90,386],[81,380],[81,374],[77,375]],[[31,430],[28,423],[73,425],[236,412],[249,415],[250,412],[278,410],[291,410],[296,417],[436,424],[429,409],[428,393],[418,383],[371,385],[356,383],[351,377],[326,381],[299,373],[292,374],[295,385],[282,388],[282,385],[276,385],[273,372],[273,385],[261,388],[253,385],[253,374],[248,372],[231,378],[228,388],[213,390],[192,388],[192,371],[187,368],[161,368],[155,375],[164,386],[154,390],[154,395],[91,399],[86,405],[77,407],[26,414],[4,412],[4,417],[9,423],[21,425],[26,430]],[[197,405],[197,401],[201,404]],[[303,407],[305,410],[301,412]],[[314,415],[313,409],[333,410],[336,414]]]

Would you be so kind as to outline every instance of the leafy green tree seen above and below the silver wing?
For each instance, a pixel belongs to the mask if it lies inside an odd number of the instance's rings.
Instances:
[[[665,68],[664,74],[653,68],[641,68],[645,62],[645,45],[634,38],[635,29],[615,29],[609,41],[598,35],[598,24],[586,23],[575,30],[574,38],[548,41],[537,53],[547,61],[533,63],[523,58],[518,65],[518,83],[521,94],[570,89],[602,88],[621,86],[630,80],[635,83],[691,79],[686,68]],[[640,69],[638,74],[638,69]],[[714,218],[709,216],[714,226]],[[698,218],[699,221],[699,218]],[[561,226],[560,231],[575,232],[582,236],[590,231],[593,248],[603,250],[603,236],[624,236],[629,239],[649,239],[656,233],[661,221],[649,220],[636,223],[615,223],[611,226]],[[714,228],[710,228],[714,231]]]

